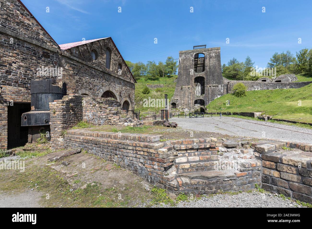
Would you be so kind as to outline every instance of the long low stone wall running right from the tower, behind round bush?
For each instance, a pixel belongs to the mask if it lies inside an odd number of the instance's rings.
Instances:
[[[247,91],[254,91],[254,90],[302,88],[312,83],[312,81],[281,83],[281,82],[247,81],[247,80],[228,80],[224,81],[224,92],[232,93],[233,87],[236,83],[243,83],[247,87]]]

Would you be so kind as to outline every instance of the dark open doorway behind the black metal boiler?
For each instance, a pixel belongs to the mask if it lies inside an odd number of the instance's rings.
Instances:
[[[7,148],[24,146],[28,140],[28,127],[21,126],[22,113],[29,112],[30,103],[13,103],[7,107]]]

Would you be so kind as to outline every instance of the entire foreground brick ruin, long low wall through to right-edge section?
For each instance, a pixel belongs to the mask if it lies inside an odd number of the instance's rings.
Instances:
[[[87,150],[176,194],[246,191],[258,184],[312,203],[312,145],[222,143],[215,138],[160,141],[156,135],[86,130],[67,131],[64,145]]]

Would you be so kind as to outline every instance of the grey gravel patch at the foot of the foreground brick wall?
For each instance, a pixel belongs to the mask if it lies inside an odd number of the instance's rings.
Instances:
[[[170,205],[159,204],[153,207],[170,208]],[[196,201],[180,202],[176,208],[305,208],[287,198],[283,199],[271,193],[217,194],[212,197],[202,197]]]

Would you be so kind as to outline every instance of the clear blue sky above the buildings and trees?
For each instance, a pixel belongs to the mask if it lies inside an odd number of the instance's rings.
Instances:
[[[274,52],[312,48],[311,0],[22,2],[58,44],[111,36],[124,59],[132,62],[178,58],[180,50],[206,44],[221,47],[222,64],[249,55],[255,65],[266,67]]]

